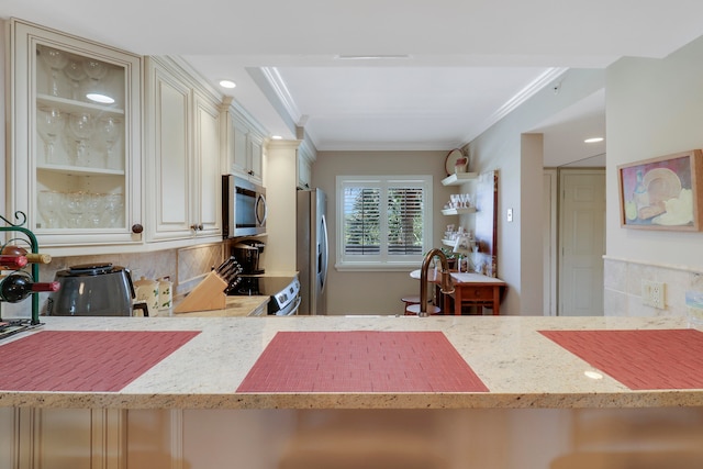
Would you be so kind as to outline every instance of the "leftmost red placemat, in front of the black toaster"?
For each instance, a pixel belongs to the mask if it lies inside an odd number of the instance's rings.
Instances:
[[[0,346],[0,390],[116,392],[198,334],[42,331]]]

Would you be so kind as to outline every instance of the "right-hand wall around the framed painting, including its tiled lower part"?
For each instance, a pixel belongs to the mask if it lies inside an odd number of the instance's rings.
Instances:
[[[683,315],[685,291],[703,291],[703,234],[622,228],[617,187],[618,165],[703,148],[702,81],[703,37],[606,71],[606,315]],[[643,304],[641,280],[666,283],[666,310]]]

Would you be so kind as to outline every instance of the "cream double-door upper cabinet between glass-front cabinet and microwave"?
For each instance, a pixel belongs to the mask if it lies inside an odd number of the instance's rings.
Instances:
[[[217,98],[176,59],[147,57],[145,66],[148,241],[220,241]]]

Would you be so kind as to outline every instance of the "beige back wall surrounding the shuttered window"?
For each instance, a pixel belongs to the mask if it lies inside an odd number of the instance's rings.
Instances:
[[[327,193],[330,220],[330,271],[327,279],[327,314],[401,314],[406,294],[420,294],[417,280],[408,271],[338,271],[334,267],[336,246],[337,175],[432,175],[434,181],[433,220],[434,245],[440,247],[442,233],[447,223],[439,212],[449,200],[451,188],[442,186],[447,175],[444,161],[447,152],[319,152],[313,165],[312,182]],[[456,190],[456,189],[455,189]],[[417,266],[420,267],[420,266]]]

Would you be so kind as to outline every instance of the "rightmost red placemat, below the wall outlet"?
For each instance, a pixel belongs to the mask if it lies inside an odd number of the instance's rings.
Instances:
[[[629,389],[703,389],[700,331],[539,332]]]

